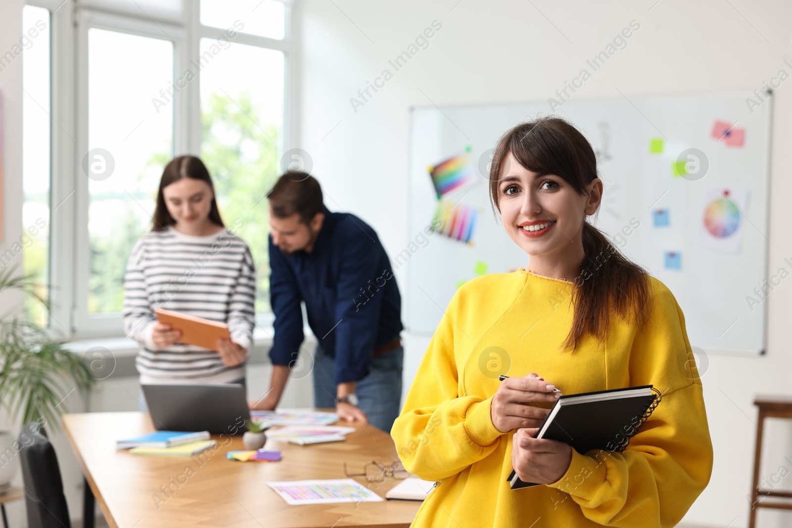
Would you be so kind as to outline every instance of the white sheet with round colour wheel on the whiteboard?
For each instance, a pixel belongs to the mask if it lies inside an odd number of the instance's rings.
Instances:
[[[699,241],[707,249],[740,253],[748,213],[747,188],[706,188]]]

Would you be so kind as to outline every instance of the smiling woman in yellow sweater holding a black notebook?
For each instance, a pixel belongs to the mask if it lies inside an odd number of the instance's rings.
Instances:
[[[513,128],[491,166],[493,206],[530,260],[459,288],[390,431],[406,469],[440,481],[413,526],[675,526],[712,471],[680,307],[586,222],[603,185],[572,125]],[[554,387],[648,384],[662,401],[621,454],[534,438]],[[512,468],[544,485],[512,490]]]

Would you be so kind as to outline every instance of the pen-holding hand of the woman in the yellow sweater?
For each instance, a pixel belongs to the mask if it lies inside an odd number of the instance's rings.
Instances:
[[[555,402],[561,393],[554,393],[553,388],[535,373],[525,378],[506,378],[489,407],[493,425],[502,433],[521,427],[539,427],[549,409],[526,404]]]

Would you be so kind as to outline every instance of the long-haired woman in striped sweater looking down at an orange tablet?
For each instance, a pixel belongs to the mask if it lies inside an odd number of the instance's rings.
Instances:
[[[124,287],[124,331],[141,345],[141,384],[245,384],[255,324],[253,257],[225,228],[199,158],[174,158],[163,171],[153,227],[132,249]],[[226,323],[231,339],[218,340],[217,351],[179,344],[181,333],[158,323],[156,308]]]

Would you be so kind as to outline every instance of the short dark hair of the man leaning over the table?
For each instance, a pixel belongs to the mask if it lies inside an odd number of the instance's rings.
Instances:
[[[269,192],[269,205],[277,218],[287,218],[295,213],[304,224],[310,224],[324,207],[322,186],[307,173],[289,171],[278,178]]]

